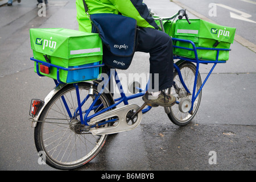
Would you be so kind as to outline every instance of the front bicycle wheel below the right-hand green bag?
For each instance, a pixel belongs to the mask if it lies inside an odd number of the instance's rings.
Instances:
[[[176,97],[176,101],[181,101],[182,99],[188,98],[189,100],[192,100],[192,92],[193,92],[193,84],[195,81],[195,75],[196,75],[196,65],[185,60],[179,60],[177,61],[176,65],[179,67],[181,76],[183,77],[183,80],[185,82],[185,85],[187,86],[189,92],[191,92],[191,95],[187,96],[187,92],[185,92],[185,89],[183,85],[181,84],[181,81],[179,79],[178,73],[175,69],[174,71],[174,82],[176,85],[180,88],[179,92],[177,92],[172,86],[170,89],[168,89],[168,94],[172,94]],[[196,93],[199,90],[200,86],[202,85],[201,76],[198,72],[197,76],[197,84],[196,84]],[[193,112],[192,114],[183,113],[179,109],[179,104],[175,104],[174,106],[170,107],[170,113],[167,114],[172,123],[178,126],[184,126],[187,125],[189,122],[192,121],[193,117],[195,117],[197,110],[199,109],[199,105],[201,102],[201,96],[202,91],[197,96],[194,104],[193,104]]]

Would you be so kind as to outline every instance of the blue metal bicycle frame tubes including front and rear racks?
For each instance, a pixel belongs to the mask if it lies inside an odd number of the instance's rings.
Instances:
[[[187,43],[190,43],[192,44],[193,48],[185,48],[185,47],[179,47],[179,46],[174,46],[176,48],[182,48],[182,49],[187,49],[187,50],[191,50],[191,51],[194,51],[195,52],[195,59],[189,59],[188,57],[181,57],[181,56],[174,56],[174,59],[181,59],[181,60],[185,60],[185,61],[191,61],[192,63],[196,63],[196,73],[195,73],[195,81],[194,81],[194,85],[193,85],[193,92],[192,92],[192,106],[191,106],[191,109],[189,111],[190,114],[192,114],[192,111],[193,111],[193,104],[197,98],[197,96],[199,95],[199,93],[201,92],[201,89],[203,88],[203,86],[205,85],[205,82],[208,80],[210,74],[212,73],[213,69],[215,68],[216,64],[217,63],[226,63],[226,61],[218,61],[218,54],[219,54],[219,51],[230,51],[231,49],[220,49],[220,48],[200,48],[200,47],[196,47],[195,46],[195,43],[193,43],[191,40],[185,40],[185,39],[176,39],[176,38],[172,38],[172,40],[174,41],[181,41],[181,42],[187,42]],[[207,50],[215,50],[217,51],[217,56],[216,56],[216,60],[215,61],[210,61],[210,60],[199,60],[198,57],[197,57],[197,49],[207,49]],[[77,69],[87,69],[87,68],[94,68],[94,67],[103,67],[104,64],[100,64],[100,65],[93,65],[93,66],[85,66],[85,67],[80,67],[80,68],[63,68],[63,67],[59,67],[57,65],[53,65],[51,63],[46,63],[45,61],[40,61],[40,60],[36,60],[34,59],[33,57],[31,57],[31,60],[33,61],[36,61],[36,71],[38,73],[39,76],[43,76],[39,73],[39,69],[38,69],[38,65],[39,63],[42,63],[44,65],[47,65],[48,67],[56,67],[57,68],[57,80],[54,80],[55,81],[55,84],[58,85],[60,83],[62,83],[59,79],[59,69],[64,69],[65,71],[74,71],[74,70],[77,70]],[[213,64],[213,67],[212,69],[210,69],[210,72],[208,73],[207,77],[205,78],[203,84],[200,86],[200,89],[197,91],[196,93],[196,83],[197,83],[197,77],[198,77],[198,73],[199,73],[199,64],[200,63],[203,63],[203,64],[208,64],[208,63],[212,63]],[[187,91],[187,93],[191,94],[191,92],[188,90],[187,86],[185,85],[184,83],[184,80],[183,80],[183,77],[181,75],[181,72],[180,72],[180,69],[178,67],[178,65],[176,65],[174,63],[174,68],[176,69],[177,71],[177,74],[179,76],[179,79],[181,81],[181,84],[183,85],[184,89]],[[104,90],[105,90],[105,85],[108,84],[108,82],[110,81],[110,78],[114,75],[115,77],[115,83],[117,85],[120,85],[118,86],[118,89],[119,89],[119,93],[121,94],[121,97],[117,98],[114,100],[115,104],[109,106],[109,107],[106,107],[105,109],[102,109],[100,111],[98,111],[97,113],[94,113],[93,115],[89,115],[90,111],[94,110],[94,109],[97,109],[99,107],[99,105],[96,105],[96,102],[98,100],[98,98],[100,98],[100,95],[102,93],[104,93]],[[110,110],[110,109],[113,109],[115,106],[121,104],[121,102],[123,102],[123,104],[125,105],[128,105],[129,104],[129,100],[133,100],[134,98],[138,98],[138,97],[142,97],[146,91],[147,91],[147,87],[146,89],[141,89],[141,88],[137,88],[140,92],[137,93],[137,94],[133,94],[131,96],[126,96],[125,95],[125,92],[123,91],[123,88],[122,88],[122,85],[121,85],[121,82],[119,80],[119,77],[118,77],[118,74],[117,74],[117,71],[115,70],[114,72],[113,71],[110,71],[108,73],[108,79],[104,80],[104,85],[102,86],[102,89],[101,91],[96,95],[96,98],[94,99],[92,105],[90,105],[89,109],[85,110],[85,111],[82,111],[82,105],[85,104],[86,100],[88,100],[89,98],[89,94],[88,96],[86,96],[86,98],[84,98],[84,100],[80,101],[80,94],[79,94],[79,85],[77,83],[74,84],[75,88],[76,88],[76,94],[77,94],[77,102],[78,102],[78,107],[75,111],[75,113],[72,115],[71,111],[69,110],[68,108],[68,105],[67,105],[67,102],[65,101],[65,98],[64,97],[61,97],[62,100],[63,100],[63,103],[65,105],[65,108],[67,109],[67,112],[68,112],[68,115],[69,117],[72,119],[72,118],[76,118],[77,115],[80,115],[80,119],[81,119],[81,124],[82,125],[86,125],[86,126],[89,126],[88,125],[88,122],[90,121],[90,119],[92,119],[93,117],[96,117],[97,115],[99,114],[102,114],[104,113],[105,111],[107,110]],[[176,104],[179,104],[179,102],[176,102]],[[147,111],[149,111],[151,109],[151,106],[147,106],[146,109],[143,109],[142,110],[142,113],[147,113]],[[84,114],[84,117],[82,117],[82,114]],[[116,119],[111,119],[109,121],[105,121],[105,122],[101,122],[98,124],[98,126],[100,125],[105,125],[106,123],[110,123],[110,122],[114,122]],[[94,127],[94,126],[90,126],[90,127]]]

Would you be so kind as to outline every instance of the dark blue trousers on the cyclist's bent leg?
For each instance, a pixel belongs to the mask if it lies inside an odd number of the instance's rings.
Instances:
[[[170,88],[174,77],[174,59],[172,40],[166,33],[154,28],[140,27],[136,51],[150,53],[150,73],[152,78],[148,91],[160,91]],[[159,80],[154,75],[159,74]],[[154,88],[158,81],[159,88]]]

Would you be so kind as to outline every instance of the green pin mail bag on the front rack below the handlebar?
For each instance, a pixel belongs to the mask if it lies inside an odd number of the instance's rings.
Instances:
[[[229,49],[233,43],[236,28],[220,26],[201,19],[177,20],[175,38],[191,40],[196,47]],[[176,41],[175,46],[193,48],[191,43]],[[174,48],[174,54],[195,59],[194,51]],[[198,59],[216,60],[217,51],[197,49]],[[218,61],[229,59],[229,51],[220,51]]]

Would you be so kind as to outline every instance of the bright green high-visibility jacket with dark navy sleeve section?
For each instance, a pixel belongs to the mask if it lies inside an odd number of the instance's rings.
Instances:
[[[147,6],[142,0],[86,0],[89,14],[113,13],[129,16],[137,20],[139,27],[149,27],[158,29],[154,19],[148,14]],[[77,22],[79,30],[91,32],[92,26],[88,16],[85,13],[82,0],[76,0]]]

